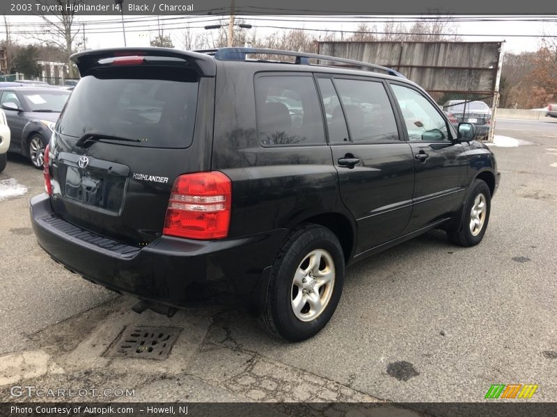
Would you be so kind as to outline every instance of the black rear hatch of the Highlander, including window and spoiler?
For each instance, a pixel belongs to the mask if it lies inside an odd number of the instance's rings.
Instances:
[[[150,48],[72,59],[81,81],[49,145],[52,208],[102,236],[150,243],[175,179],[210,169],[214,62]]]

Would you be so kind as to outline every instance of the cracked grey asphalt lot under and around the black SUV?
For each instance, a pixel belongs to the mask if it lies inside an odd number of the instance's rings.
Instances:
[[[557,401],[555,122],[497,120],[533,145],[492,148],[502,180],[483,243],[432,231],[354,265],[329,325],[297,344],[224,307],[137,315],[132,298],[56,265],[29,222],[42,173],[10,155],[0,181],[28,191],[0,201],[0,401],[56,400],[13,397],[14,384],[134,389],[91,401],[308,402],[330,416],[346,414],[340,402],[478,402],[491,384],[539,384],[533,401]],[[164,361],[105,356],[128,325],[182,332]]]

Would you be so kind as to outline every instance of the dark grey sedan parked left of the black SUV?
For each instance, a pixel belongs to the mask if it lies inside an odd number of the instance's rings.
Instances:
[[[9,151],[27,156],[42,169],[45,147],[68,97],[69,91],[58,88],[0,88],[0,105],[11,131]]]

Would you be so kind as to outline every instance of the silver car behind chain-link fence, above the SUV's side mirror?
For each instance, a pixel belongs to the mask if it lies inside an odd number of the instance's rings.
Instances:
[[[483,101],[449,100],[443,105],[443,111],[455,128],[460,122],[471,123],[476,138],[489,135],[492,110]]]

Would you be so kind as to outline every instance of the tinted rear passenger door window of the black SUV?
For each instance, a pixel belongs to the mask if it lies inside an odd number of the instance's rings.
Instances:
[[[335,84],[353,142],[399,140],[393,108],[382,83],[336,79]]]

